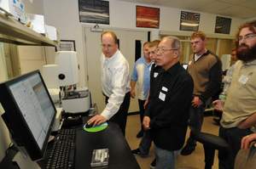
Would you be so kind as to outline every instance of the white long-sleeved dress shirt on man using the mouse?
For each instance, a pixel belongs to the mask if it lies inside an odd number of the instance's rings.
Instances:
[[[130,92],[129,64],[119,50],[111,58],[102,54],[102,92],[108,96],[108,104],[102,114],[108,120],[119,110],[125,93]]]

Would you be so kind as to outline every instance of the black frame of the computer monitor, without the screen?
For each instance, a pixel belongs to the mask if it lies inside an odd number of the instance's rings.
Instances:
[[[41,82],[43,83],[43,86],[49,97],[50,103],[52,104],[55,111],[53,118],[49,123],[49,130],[46,134],[42,149],[39,148],[37,141],[33,137],[32,131],[28,127],[26,120],[24,119],[21,113],[20,108],[15,101],[13,93],[10,91],[10,88],[9,88],[15,82],[20,82],[28,78],[29,76],[33,76],[36,74],[39,75]],[[42,159],[44,157],[44,152],[48,144],[48,138],[55,121],[56,109],[55,109],[55,104],[50,98],[49,91],[45,85],[44,79],[40,71],[34,70],[27,74],[15,77],[14,79],[11,79],[7,82],[3,82],[0,84],[0,91],[1,91],[0,102],[3,106],[3,110],[5,110],[5,112],[3,113],[3,121],[5,121],[6,126],[9,128],[11,138],[15,141],[15,144],[17,144],[17,146],[24,147],[26,149],[26,153],[30,156],[32,161]]]

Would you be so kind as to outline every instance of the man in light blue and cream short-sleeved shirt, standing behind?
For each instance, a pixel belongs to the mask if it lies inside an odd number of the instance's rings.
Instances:
[[[137,138],[143,137],[143,115],[144,108],[143,105],[148,98],[148,91],[150,86],[150,67],[151,59],[148,53],[149,42],[144,42],[143,44],[143,57],[137,59],[135,62],[133,72],[131,74],[131,98],[135,98],[136,92],[135,88],[137,85],[137,98],[140,110],[140,120],[142,124],[141,131],[137,133]]]

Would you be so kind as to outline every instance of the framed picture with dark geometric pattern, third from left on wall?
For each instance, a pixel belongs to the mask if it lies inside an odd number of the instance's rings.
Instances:
[[[200,14],[181,11],[180,31],[198,31]]]

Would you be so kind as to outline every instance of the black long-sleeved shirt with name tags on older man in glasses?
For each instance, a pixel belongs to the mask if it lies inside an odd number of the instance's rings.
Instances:
[[[177,63],[169,70],[154,67],[150,76],[150,94],[145,115],[150,117],[150,133],[161,149],[176,150],[183,146],[193,80]]]

